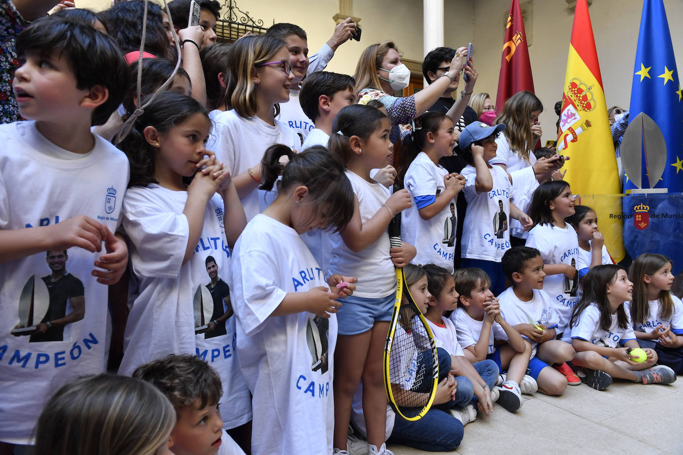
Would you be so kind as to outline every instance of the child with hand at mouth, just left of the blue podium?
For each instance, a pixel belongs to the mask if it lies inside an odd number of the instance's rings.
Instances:
[[[579,239],[579,256],[576,258],[579,281],[592,267],[614,263],[604,245],[604,237],[598,229],[598,216],[593,209],[574,205],[574,215],[565,221],[572,225]]]

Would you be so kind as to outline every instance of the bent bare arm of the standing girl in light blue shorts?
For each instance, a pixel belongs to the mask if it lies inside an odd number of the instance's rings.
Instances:
[[[391,218],[400,211],[410,207],[410,194],[408,190],[400,190],[387,199],[385,205],[379,208],[376,214],[361,222],[361,211],[358,207],[358,197],[354,196],[355,207],[351,221],[346,225],[342,235],[344,243],[353,252],[361,252],[374,244],[387,230]]]

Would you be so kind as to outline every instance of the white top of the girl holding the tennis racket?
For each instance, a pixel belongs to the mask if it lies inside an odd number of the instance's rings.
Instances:
[[[353,192],[358,198],[361,222],[367,222],[389,199],[389,190],[381,184],[371,184],[352,171],[346,171]],[[386,210],[386,209],[382,209]],[[396,274],[389,256],[389,233],[384,231],[374,244],[361,252],[354,252],[344,243],[339,233],[330,234],[332,257],[330,274],[358,278],[355,297],[382,298],[396,291]],[[343,307],[342,307],[343,308]]]

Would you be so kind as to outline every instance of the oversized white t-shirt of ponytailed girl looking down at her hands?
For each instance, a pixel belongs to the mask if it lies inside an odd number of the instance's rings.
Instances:
[[[337,318],[270,316],[288,293],[328,287],[320,265],[294,229],[259,214],[235,244],[232,281],[253,453],[331,453]]]

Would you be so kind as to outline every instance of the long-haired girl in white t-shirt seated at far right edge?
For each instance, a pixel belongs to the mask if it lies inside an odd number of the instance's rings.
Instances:
[[[641,254],[631,264],[629,275],[633,281],[629,314],[636,338],[654,347],[660,364],[683,374],[683,304],[671,293],[671,259]]]

